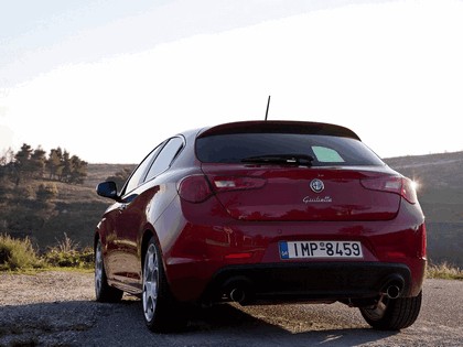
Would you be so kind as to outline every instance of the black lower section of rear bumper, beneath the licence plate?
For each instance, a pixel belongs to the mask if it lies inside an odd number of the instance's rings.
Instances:
[[[203,300],[343,301],[376,297],[390,285],[400,289],[400,296],[410,295],[411,274],[407,265],[378,262],[230,265],[214,274]]]

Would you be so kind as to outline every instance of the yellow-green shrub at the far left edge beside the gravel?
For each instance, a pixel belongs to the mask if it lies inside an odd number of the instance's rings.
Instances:
[[[14,239],[7,234],[0,235],[0,270],[22,270],[43,268],[29,238]]]

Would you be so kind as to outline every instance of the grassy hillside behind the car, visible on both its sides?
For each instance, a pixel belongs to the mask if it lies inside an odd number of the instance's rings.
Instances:
[[[385,162],[419,183],[430,259],[463,267],[463,152],[391,158]],[[96,195],[95,186],[125,167],[133,170],[134,165],[89,164],[82,185],[34,181],[14,194],[13,188],[0,192],[0,232],[29,236],[42,250],[63,239],[64,232],[82,247],[89,246],[95,226],[110,204]],[[40,184],[56,185],[57,196],[46,204],[37,202],[33,192]]]

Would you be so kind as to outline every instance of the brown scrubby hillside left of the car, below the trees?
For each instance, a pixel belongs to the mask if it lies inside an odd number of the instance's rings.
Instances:
[[[29,237],[44,251],[64,238],[64,232],[80,247],[91,245],[93,230],[110,204],[99,197],[95,186],[123,167],[134,165],[90,164],[84,184],[33,180],[15,187],[3,182],[0,192],[0,232],[12,237]],[[40,202],[35,192],[41,185],[54,186],[57,195]]]

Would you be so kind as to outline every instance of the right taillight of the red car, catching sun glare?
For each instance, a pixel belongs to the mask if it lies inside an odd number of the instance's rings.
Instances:
[[[402,196],[410,204],[418,202],[414,183],[402,176],[383,176],[360,180],[362,185],[372,191],[396,193]]]

